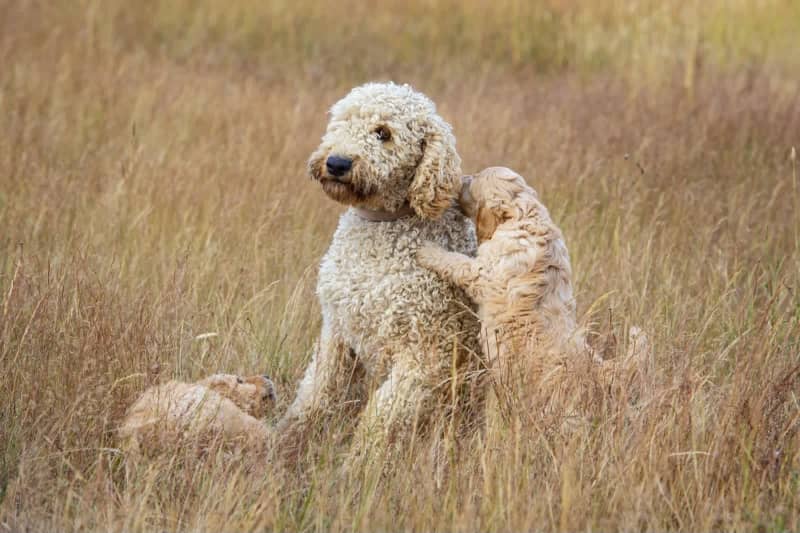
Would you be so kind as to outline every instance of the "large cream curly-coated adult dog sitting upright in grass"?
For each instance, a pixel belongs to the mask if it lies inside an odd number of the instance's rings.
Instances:
[[[431,100],[407,85],[370,83],[331,108],[309,172],[350,208],[319,270],[322,332],[278,429],[303,434],[353,409],[361,413],[354,451],[378,451],[431,419],[450,394],[454,360],[464,385],[478,359],[468,298],[415,259],[425,241],[475,253],[473,225],[454,205],[460,158]],[[476,401],[480,389],[461,388]]]

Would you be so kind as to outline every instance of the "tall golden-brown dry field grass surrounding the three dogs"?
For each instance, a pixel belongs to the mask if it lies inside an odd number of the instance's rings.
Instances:
[[[0,531],[800,529],[797,2],[0,12]],[[650,336],[645,392],[383,475],[342,474],[345,418],[297,467],[133,464],[115,428],[157,379],[266,372],[291,401],[343,209],[305,161],[385,79],[437,102],[465,171],[536,187],[584,321]]]

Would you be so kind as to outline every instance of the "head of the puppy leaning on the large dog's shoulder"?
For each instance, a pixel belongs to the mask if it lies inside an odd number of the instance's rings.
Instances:
[[[459,206],[475,222],[478,242],[492,238],[497,226],[521,215],[519,200],[535,192],[511,169],[489,167],[462,178]]]

